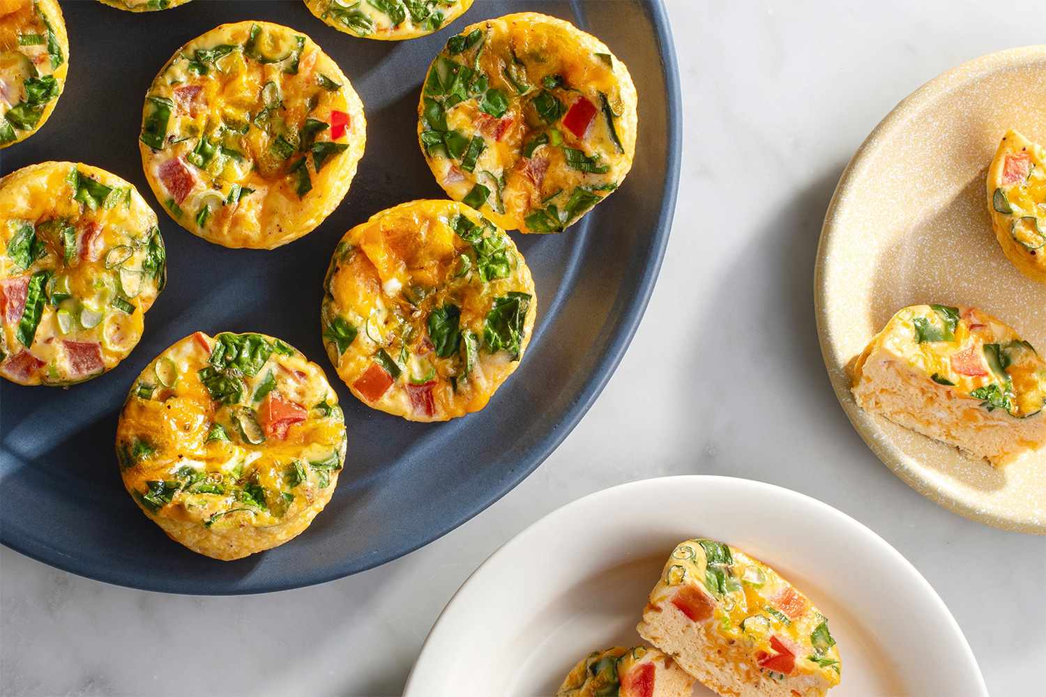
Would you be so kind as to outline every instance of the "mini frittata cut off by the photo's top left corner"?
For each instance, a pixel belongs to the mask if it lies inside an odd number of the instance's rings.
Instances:
[[[55,0],[0,0],[0,149],[35,134],[65,89],[69,37]]]

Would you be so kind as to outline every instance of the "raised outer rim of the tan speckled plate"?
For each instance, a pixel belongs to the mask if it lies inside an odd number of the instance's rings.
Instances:
[[[857,405],[850,394],[849,373],[845,368],[841,368],[847,365],[849,358],[844,359],[840,355],[828,331],[827,296],[829,288],[825,270],[828,265],[827,259],[832,242],[834,238],[839,236],[836,235],[839,218],[842,216],[842,211],[855,188],[855,182],[868,172],[871,166],[870,162],[884,146],[885,137],[893,129],[903,125],[914,114],[926,109],[941,95],[952,92],[964,84],[980,79],[993,72],[1043,61],[1046,61],[1046,45],[1021,46],[987,53],[940,73],[897,102],[864,139],[839,178],[821,227],[814,264],[813,288],[818,342],[833,391],[846,414],[846,418],[872,454],[905,484],[946,510],[1007,532],[1032,535],[1046,535],[1046,518],[1027,519],[1008,516],[1006,515],[1008,511],[986,511],[973,501],[964,501],[941,491],[935,482],[908,462],[900,447],[891,443],[890,437],[883,432],[883,424],[879,422],[882,417],[869,415]],[[992,236],[994,237],[994,235]],[[868,340],[870,339],[869,335]],[[896,427],[901,428],[901,426]],[[918,438],[925,437],[918,436]],[[955,457],[963,458],[964,456],[956,451]],[[984,464],[984,467],[990,466]]]

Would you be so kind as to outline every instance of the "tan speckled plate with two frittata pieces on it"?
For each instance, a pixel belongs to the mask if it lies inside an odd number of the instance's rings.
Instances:
[[[879,459],[956,513],[1043,535],[1046,449],[997,470],[865,413],[849,393],[847,365],[906,305],[976,305],[1046,347],[1046,285],[1002,255],[985,203],[984,176],[1008,127],[1046,140],[1046,46],[971,61],[897,104],[839,181],[814,303],[836,396]]]

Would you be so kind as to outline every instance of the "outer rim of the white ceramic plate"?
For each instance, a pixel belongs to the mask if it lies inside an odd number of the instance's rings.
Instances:
[[[945,645],[945,648],[940,649],[941,652],[953,656],[961,655],[964,658],[961,664],[964,670],[961,671],[961,675],[959,677],[955,678],[955,684],[962,686],[961,690],[963,691],[963,694],[972,696],[974,694],[984,697],[987,696],[987,687],[984,682],[984,677],[981,674],[980,667],[977,664],[977,659],[974,656],[973,650],[970,648],[970,644],[967,641],[965,635],[962,633],[962,629],[955,621],[955,618],[948,609],[948,606],[937,595],[936,590],[933,589],[933,586],[930,585],[929,581],[923,577],[918,570],[916,570],[911,562],[904,557],[904,555],[891,547],[889,542],[876,534],[874,531],[842,511],[833,508],[823,502],[817,501],[816,498],[808,496],[806,494],[793,491],[791,489],[786,489],[783,487],[765,482],[741,478],[709,474],[683,474],[637,480],[620,484],[609,489],[593,492],[548,513],[523,529],[511,539],[501,545],[490,557],[487,557],[487,559],[480,564],[480,566],[468,579],[465,579],[460,588],[458,588],[450,601],[448,601],[447,606],[436,619],[436,622],[422,645],[422,650],[418,654],[417,660],[414,663],[410,675],[407,678],[407,683],[404,688],[404,697],[422,697],[423,695],[425,697],[431,697],[432,695],[449,694],[439,692],[441,683],[438,681],[440,678],[450,679],[452,677],[449,669],[447,668],[448,656],[452,655],[452,652],[447,647],[458,646],[460,644],[462,628],[474,626],[474,623],[470,620],[470,610],[473,608],[482,609],[481,601],[477,601],[475,595],[477,593],[482,593],[481,588],[485,582],[484,576],[488,574],[493,574],[495,577],[507,575],[499,573],[499,566],[503,565],[511,566],[514,574],[525,573],[525,567],[521,567],[519,561],[521,558],[525,557],[525,555],[520,553],[527,547],[544,545],[545,542],[550,539],[570,539],[570,533],[574,531],[571,526],[571,521],[574,521],[575,526],[579,526],[582,522],[591,522],[592,520],[600,519],[605,520],[608,526],[624,526],[628,522],[627,519],[630,512],[638,507],[641,507],[643,501],[670,502],[673,497],[676,497],[679,501],[685,498],[687,507],[696,508],[700,506],[702,496],[706,496],[709,502],[751,502],[754,499],[761,499],[764,503],[770,502],[770,506],[756,506],[755,510],[779,511],[784,507],[802,510],[803,515],[792,516],[791,519],[796,521],[795,525],[808,526],[811,528],[816,527],[823,531],[822,539],[819,540],[821,543],[831,544],[833,541],[839,542],[840,547],[835,547],[833,550],[838,550],[839,554],[843,555],[849,554],[852,556],[860,556],[862,561],[865,561],[866,566],[869,568],[881,568],[885,567],[886,564],[890,564],[891,574],[894,574],[895,576],[900,576],[902,574],[904,575],[903,583],[901,581],[896,581],[895,585],[899,587],[907,587],[909,589],[917,588],[918,590],[918,593],[916,593],[916,590],[911,590],[911,594],[908,596],[909,604],[918,604],[918,602],[928,603],[932,609],[933,617],[936,618],[934,629],[929,632],[934,635],[935,641],[927,641],[925,642],[925,645]],[[658,507],[655,510],[660,514],[664,514],[669,508],[669,505],[665,505],[664,507]],[[613,518],[608,518],[606,513],[611,510],[614,511],[614,516]],[[650,517],[656,518],[658,513],[655,513]],[[644,519],[649,519],[645,515],[649,515],[649,511],[644,512]],[[700,516],[700,513],[695,514],[696,518]],[[788,516],[777,517],[776,515],[770,515],[770,517],[775,524],[779,524],[782,519],[789,519]],[[673,521],[673,527],[676,527],[677,525],[681,529],[686,529],[691,535],[700,535],[706,532],[701,528],[688,528],[686,520],[679,524]],[[663,526],[660,527],[663,528]],[[659,533],[661,532],[663,532],[663,530],[659,530]],[[720,536],[721,539],[726,537],[728,536]],[[843,538],[848,538],[845,540],[848,544],[843,544]],[[864,542],[864,544],[852,544],[855,539]],[[678,541],[678,539],[675,539],[675,541],[668,543],[663,550],[660,548],[658,549],[658,552],[661,555],[657,557],[658,568],[660,568],[663,563],[663,559],[672,551],[672,544],[675,544]],[[768,563],[778,571],[784,570],[786,577],[793,576],[788,573],[789,571],[797,571],[792,570],[788,563],[778,563],[780,559],[775,559],[773,554],[767,554],[768,549],[765,547],[766,542],[760,544],[756,539],[748,538],[744,534],[741,534],[740,539],[724,539],[724,541],[734,544],[740,549],[744,549],[746,552],[751,553],[758,559],[770,559]],[[862,551],[859,551],[859,548]],[[558,555],[562,554],[563,550],[558,550],[556,553]],[[642,554],[644,555],[645,551]],[[640,555],[621,553],[620,561],[629,561],[636,556]],[[869,557],[874,558],[877,563],[868,563],[867,560]],[[655,571],[654,577],[656,577],[656,574],[657,572]],[[809,576],[812,574],[806,573],[800,575]],[[895,576],[891,578],[895,580]],[[651,583],[653,583],[654,577],[652,577]],[[820,584],[820,589],[824,590],[831,587],[831,582],[822,583]],[[890,581],[887,580],[886,586],[884,587],[888,589]],[[811,595],[813,596],[814,594]],[[911,600],[916,597],[920,599],[918,602]],[[639,611],[642,607],[645,595],[642,595],[635,601],[636,622],[639,620]],[[896,600],[897,597],[894,596],[894,599]],[[818,602],[816,598],[815,602]],[[897,615],[894,619],[899,621],[902,619],[900,615],[904,614],[904,612],[897,608],[894,608],[888,614],[892,615],[893,613]],[[882,615],[879,618],[880,622],[889,622],[889,619],[890,618],[886,618],[884,620]],[[530,627],[530,630],[531,634],[541,634],[540,628]],[[543,634],[541,635],[543,636]],[[947,645],[943,641],[941,641],[941,637],[948,640]],[[641,642],[638,635],[634,636],[634,638],[636,642]],[[608,636],[607,641],[610,641],[610,636]],[[578,646],[576,656],[564,656],[565,665],[573,665],[573,660],[576,659],[576,657],[585,655],[585,653],[592,648],[595,647]],[[843,663],[844,665],[846,663],[845,654],[843,656]],[[955,664],[952,664],[952,668],[955,668]],[[914,670],[913,672],[917,673],[918,671]],[[958,673],[959,671],[955,670],[952,671],[950,675],[954,678]],[[566,669],[564,670],[564,674],[566,674]],[[433,690],[436,690],[436,692],[433,692]],[[457,695],[459,693],[454,694]]]

